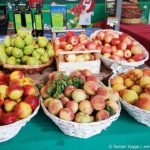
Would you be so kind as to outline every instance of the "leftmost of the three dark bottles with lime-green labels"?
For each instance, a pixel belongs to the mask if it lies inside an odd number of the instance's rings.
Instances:
[[[15,11],[13,13],[13,17],[14,17],[14,28],[16,33],[17,30],[22,28],[22,19],[21,19],[21,11],[19,10],[18,7],[18,0],[15,0],[14,2],[15,2]]]

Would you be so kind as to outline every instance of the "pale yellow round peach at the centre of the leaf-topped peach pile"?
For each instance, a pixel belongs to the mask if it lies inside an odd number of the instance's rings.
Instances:
[[[72,92],[72,98],[76,102],[80,102],[86,99],[86,93],[82,89],[76,89]]]

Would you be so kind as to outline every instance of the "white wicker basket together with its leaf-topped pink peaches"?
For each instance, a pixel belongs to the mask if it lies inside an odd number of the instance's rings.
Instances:
[[[104,86],[88,70],[67,76],[53,72],[41,89],[45,114],[69,136],[89,138],[99,134],[120,115],[119,94]]]

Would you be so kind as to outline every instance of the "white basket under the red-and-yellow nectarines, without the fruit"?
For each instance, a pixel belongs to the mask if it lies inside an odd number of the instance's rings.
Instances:
[[[17,135],[21,128],[25,126],[25,124],[38,113],[39,107],[40,105],[34,110],[34,112],[29,117],[25,119],[19,120],[10,125],[0,126],[0,143],[7,141],[13,138],[15,135]]]

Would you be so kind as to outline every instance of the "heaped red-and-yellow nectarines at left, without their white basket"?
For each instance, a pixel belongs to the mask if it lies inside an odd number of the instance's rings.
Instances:
[[[27,118],[39,105],[37,90],[31,78],[21,71],[0,71],[0,125]]]

